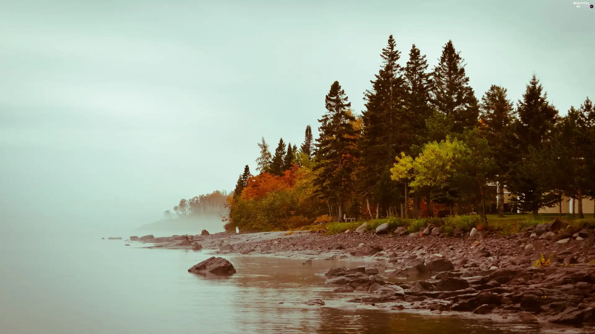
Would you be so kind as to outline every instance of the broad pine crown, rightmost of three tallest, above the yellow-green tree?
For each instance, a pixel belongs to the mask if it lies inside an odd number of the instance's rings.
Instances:
[[[442,49],[439,64],[432,76],[432,103],[446,116],[455,133],[477,125],[477,99],[469,77],[465,75],[464,59],[449,40]]]

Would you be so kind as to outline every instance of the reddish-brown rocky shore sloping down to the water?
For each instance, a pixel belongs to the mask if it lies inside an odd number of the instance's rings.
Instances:
[[[203,231],[138,240],[155,244],[148,248],[204,248],[212,254],[303,259],[304,264],[369,261],[367,266],[333,268],[319,275],[349,302],[387,310],[462,311],[574,326],[595,323],[593,229],[555,220],[509,237],[477,229],[446,237],[434,226],[413,234],[400,229],[389,234],[384,227],[337,235]],[[319,300],[307,303],[324,305]]]

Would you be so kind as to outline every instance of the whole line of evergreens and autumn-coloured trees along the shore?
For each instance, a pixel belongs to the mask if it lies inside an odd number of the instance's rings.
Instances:
[[[485,219],[495,196],[503,216],[504,188],[516,209],[534,215],[577,198],[583,218],[581,199],[595,196],[588,97],[560,116],[533,75],[516,105],[497,85],[477,99],[450,40],[432,70],[415,45],[400,65],[393,36],[380,57],[360,115],[334,81],[318,138],[308,125],[299,149],[281,138],[274,155],[262,138],[258,174],[245,166],[228,198],[228,226],[291,228],[321,215],[408,218],[421,209],[434,216],[441,208]]]

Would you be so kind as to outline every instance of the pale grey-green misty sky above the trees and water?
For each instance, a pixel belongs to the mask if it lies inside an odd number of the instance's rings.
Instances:
[[[1,1],[0,219],[137,226],[233,190],[262,136],[299,144],[339,80],[353,103],[394,34],[449,39],[478,98],[536,73],[595,98],[595,9],[572,1]]]

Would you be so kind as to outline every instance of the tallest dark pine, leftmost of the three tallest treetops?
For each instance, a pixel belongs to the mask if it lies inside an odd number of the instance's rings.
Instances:
[[[375,80],[370,81],[372,89],[364,97],[364,130],[359,142],[362,170],[358,180],[361,193],[371,197],[384,211],[399,198],[400,190],[397,182],[390,179],[389,169],[395,156],[408,151],[412,126],[406,109],[403,68],[397,64],[400,52],[392,35],[380,56],[383,65]]]

